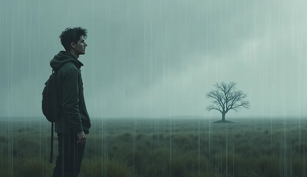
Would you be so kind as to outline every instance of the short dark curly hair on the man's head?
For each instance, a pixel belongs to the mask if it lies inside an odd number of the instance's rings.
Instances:
[[[69,51],[71,48],[70,44],[77,43],[78,40],[80,40],[80,36],[83,36],[84,39],[87,38],[87,29],[81,28],[81,27],[75,27],[75,28],[66,28],[65,31],[63,31],[59,38],[61,40],[61,44],[63,45],[64,49],[66,51]]]

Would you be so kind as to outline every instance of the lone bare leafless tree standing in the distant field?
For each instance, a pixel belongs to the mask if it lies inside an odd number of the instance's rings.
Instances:
[[[206,98],[213,99],[212,104],[206,107],[209,112],[213,109],[218,110],[222,113],[222,121],[225,121],[225,114],[233,109],[235,112],[239,112],[241,108],[250,109],[250,102],[246,100],[247,94],[242,90],[236,88],[237,83],[221,82],[214,84],[215,90],[206,93]]]

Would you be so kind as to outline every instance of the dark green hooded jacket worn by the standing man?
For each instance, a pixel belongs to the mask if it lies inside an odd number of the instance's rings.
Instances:
[[[63,99],[63,114],[54,122],[56,133],[89,133],[91,120],[88,116],[83,94],[81,66],[76,57],[66,51],[60,51],[50,61],[50,66],[57,73],[57,88]]]

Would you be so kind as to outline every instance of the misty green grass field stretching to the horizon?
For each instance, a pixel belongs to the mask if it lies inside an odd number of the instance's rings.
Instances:
[[[50,124],[28,119],[0,119],[1,177],[52,174]],[[216,120],[92,120],[79,176],[307,176],[305,118]]]

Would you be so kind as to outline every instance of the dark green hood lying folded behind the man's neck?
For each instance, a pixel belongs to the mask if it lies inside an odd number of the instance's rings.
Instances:
[[[67,62],[74,63],[78,68],[84,66],[83,63],[81,63],[74,55],[67,51],[60,51],[57,55],[54,55],[50,61],[50,66],[52,70],[58,70]]]

